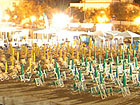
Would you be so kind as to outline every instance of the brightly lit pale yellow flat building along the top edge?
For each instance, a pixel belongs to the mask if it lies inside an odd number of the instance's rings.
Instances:
[[[80,3],[70,3],[70,7],[83,8],[83,10],[107,8],[111,3],[116,2],[133,2],[133,0],[81,0]]]

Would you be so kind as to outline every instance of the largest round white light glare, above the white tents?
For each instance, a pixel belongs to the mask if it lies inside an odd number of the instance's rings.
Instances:
[[[69,23],[70,23],[70,18],[68,15],[61,13],[61,14],[55,14],[53,16],[52,24],[54,27],[65,28]]]

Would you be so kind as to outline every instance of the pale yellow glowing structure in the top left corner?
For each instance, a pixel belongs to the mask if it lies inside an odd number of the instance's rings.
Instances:
[[[13,10],[22,0],[0,0],[0,20],[6,16],[6,9]]]

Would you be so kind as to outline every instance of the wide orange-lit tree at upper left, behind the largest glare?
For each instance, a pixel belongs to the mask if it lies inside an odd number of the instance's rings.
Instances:
[[[15,6],[14,10],[7,9],[10,20],[15,23],[22,23],[23,20],[31,22],[30,17],[35,16],[38,21],[39,17],[45,13],[49,19],[57,12],[65,12],[69,6],[70,0],[24,0]],[[17,16],[17,18],[14,18]],[[39,22],[38,22],[39,23]]]

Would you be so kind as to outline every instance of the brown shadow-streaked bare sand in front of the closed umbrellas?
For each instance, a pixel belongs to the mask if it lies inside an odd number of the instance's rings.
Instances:
[[[86,92],[75,92],[44,84],[37,87],[33,83],[17,80],[0,82],[0,103],[5,105],[140,105],[140,87],[131,89],[129,96],[114,94],[102,100]]]

